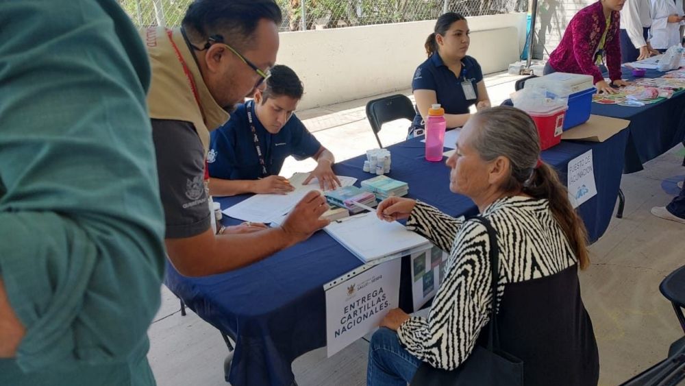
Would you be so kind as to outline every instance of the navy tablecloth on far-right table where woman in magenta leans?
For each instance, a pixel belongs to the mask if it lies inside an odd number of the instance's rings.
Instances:
[[[645,77],[664,75],[648,70]],[[634,80],[630,71],[623,69],[623,77]],[[685,141],[685,93],[644,107],[627,107],[593,103],[592,113],[605,117],[630,120],[625,147],[624,173],[643,169],[643,163],[664,154]]]

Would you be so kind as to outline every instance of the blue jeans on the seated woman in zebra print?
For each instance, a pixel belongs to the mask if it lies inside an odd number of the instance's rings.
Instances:
[[[367,386],[406,386],[412,381],[421,360],[399,344],[395,331],[381,327],[369,343]]]

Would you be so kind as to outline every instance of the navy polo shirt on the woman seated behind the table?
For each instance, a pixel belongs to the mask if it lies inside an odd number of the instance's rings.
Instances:
[[[462,82],[469,80],[473,84],[476,99],[466,100]],[[447,65],[434,53],[430,58],[416,69],[412,80],[412,91],[433,90],[436,93],[438,103],[445,109],[445,114],[468,114],[469,106],[475,104],[478,97],[478,82],[483,80],[483,71],[480,64],[471,56],[462,59],[462,73],[460,76],[447,68]],[[412,128],[423,128],[423,117],[416,112],[412,122]]]

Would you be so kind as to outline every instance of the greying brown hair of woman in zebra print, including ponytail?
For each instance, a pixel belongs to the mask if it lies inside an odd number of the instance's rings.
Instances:
[[[587,230],[569,202],[568,191],[545,162],[540,162],[540,138],[535,122],[517,108],[500,106],[475,114],[479,123],[473,147],[479,156],[491,161],[499,156],[510,161],[510,176],[501,189],[523,191],[537,199],[547,199],[554,219],[569,241],[580,269],[590,265]]]

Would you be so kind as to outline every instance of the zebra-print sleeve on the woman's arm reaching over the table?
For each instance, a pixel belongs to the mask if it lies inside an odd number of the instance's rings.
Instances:
[[[425,202],[416,201],[416,206],[407,220],[407,229],[421,234],[441,250],[449,252],[462,224],[464,217],[456,219]]]

